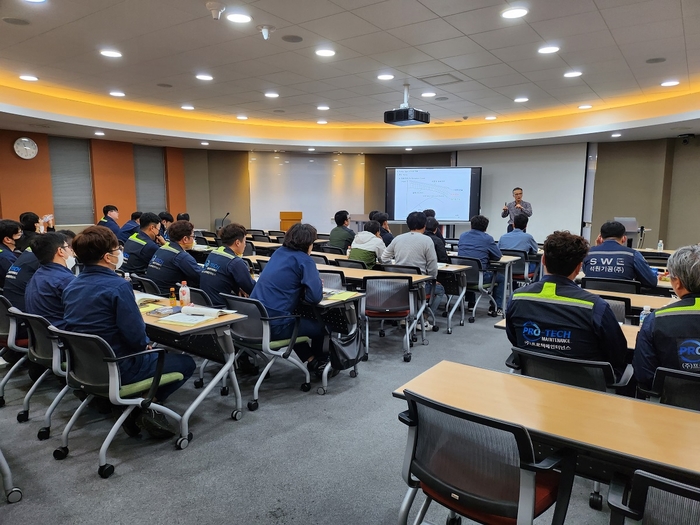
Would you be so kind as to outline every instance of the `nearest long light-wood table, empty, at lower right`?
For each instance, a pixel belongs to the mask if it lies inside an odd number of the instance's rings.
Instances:
[[[614,394],[442,361],[397,388],[522,425],[540,447],[577,451],[577,473],[607,482],[644,469],[697,480],[700,413]]]

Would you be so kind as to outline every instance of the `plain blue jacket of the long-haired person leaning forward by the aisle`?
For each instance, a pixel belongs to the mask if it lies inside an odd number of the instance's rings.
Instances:
[[[323,283],[316,263],[307,253],[283,246],[273,252],[250,297],[260,301],[271,317],[291,315],[302,298],[320,303]],[[284,326],[293,322],[289,319],[270,324]]]

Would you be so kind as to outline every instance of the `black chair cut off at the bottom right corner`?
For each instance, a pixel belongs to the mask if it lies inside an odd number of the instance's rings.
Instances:
[[[627,495],[627,497],[625,497]],[[616,474],[608,491],[610,523],[625,518],[654,525],[700,523],[700,479],[694,485],[635,470],[631,482]]]

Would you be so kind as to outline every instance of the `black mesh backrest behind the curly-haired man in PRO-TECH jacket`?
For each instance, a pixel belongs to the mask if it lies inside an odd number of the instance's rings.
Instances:
[[[569,359],[513,347],[520,373],[580,388],[606,392],[615,383],[612,365],[604,361]]]

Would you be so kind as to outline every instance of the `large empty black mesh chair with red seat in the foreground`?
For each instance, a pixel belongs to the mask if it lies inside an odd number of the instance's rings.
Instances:
[[[518,425],[446,406],[404,391],[408,426],[402,476],[408,491],[399,524],[408,522],[413,501],[425,501],[415,525],[433,501],[450,512],[447,523],[465,516],[478,523],[532,524],[554,505],[552,524],[561,525],[571,496],[576,456],[559,450],[535,461],[528,431]],[[556,470],[555,470],[556,469]]]

